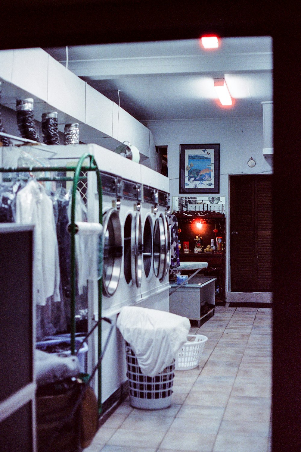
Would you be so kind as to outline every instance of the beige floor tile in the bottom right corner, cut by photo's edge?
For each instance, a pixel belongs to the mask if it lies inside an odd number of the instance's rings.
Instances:
[[[231,433],[218,434],[213,452],[264,452],[268,438],[254,436],[233,436]]]

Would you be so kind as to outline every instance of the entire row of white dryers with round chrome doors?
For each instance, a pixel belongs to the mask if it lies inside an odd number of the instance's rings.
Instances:
[[[151,306],[168,285],[169,181],[99,146],[93,151],[103,186],[103,315],[144,299]]]

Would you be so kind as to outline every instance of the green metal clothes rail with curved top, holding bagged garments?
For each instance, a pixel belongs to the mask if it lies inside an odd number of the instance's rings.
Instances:
[[[89,165],[83,166],[84,161],[89,159]],[[28,166],[28,167],[16,167],[16,168],[0,168],[0,173],[41,173],[41,172],[73,172],[74,177],[67,176],[53,176],[53,177],[38,177],[38,181],[73,181],[72,198],[71,198],[71,223],[70,223],[70,235],[71,235],[71,299],[70,299],[70,313],[71,313],[71,354],[75,355],[75,295],[76,295],[76,271],[75,271],[75,201],[76,190],[80,180],[83,180],[80,176],[81,171],[95,171],[97,177],[97,192],[99,202],[99,223],[102,225],[102,179],[100,171],[97,166],[97,162],[92,154],[88,152],[83,154],[78,161],[77,166]],[[98,319],[102,318],[102,277],[98,279]],[[90,332],[88,333],[88,335]],[[101,322],[98,321],[98,355],[102,353],[102,327]],[[101,360],[98,365],[98,412],[102,412],[102,369]]]

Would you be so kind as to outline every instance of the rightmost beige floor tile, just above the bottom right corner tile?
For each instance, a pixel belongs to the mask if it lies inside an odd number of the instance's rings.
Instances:
[[[233,436],[269,436],[269,422],[243,421],[241,419],[222,420],[218,434]]]

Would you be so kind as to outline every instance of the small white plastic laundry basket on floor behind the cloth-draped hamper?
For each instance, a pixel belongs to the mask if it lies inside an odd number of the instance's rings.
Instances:
[[[202,334],[188,334],[187,337],[194,340],[186,342],[176,353],[176,370],[190,370],[198,367],[205,342],[208,340],[208,337]]]

